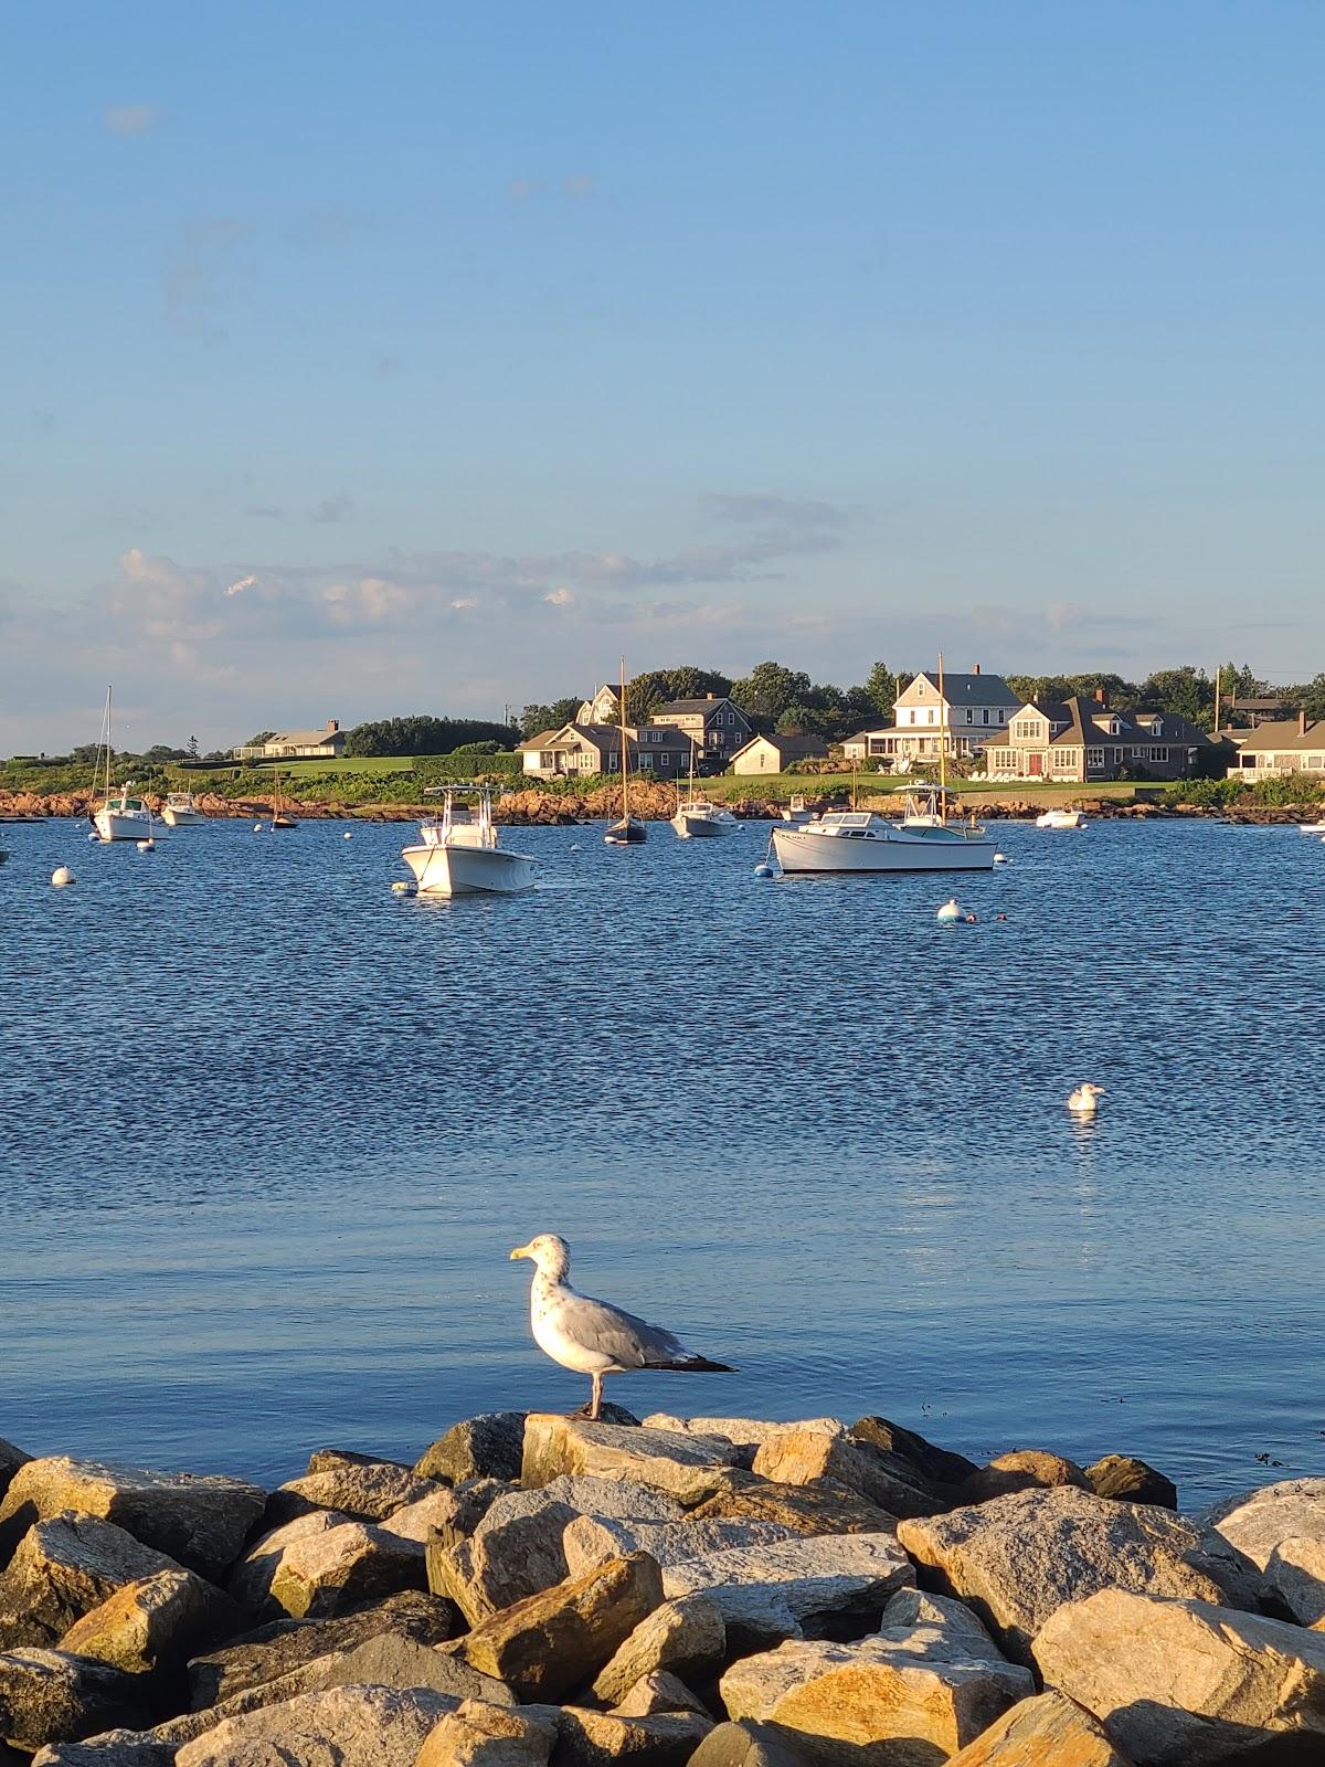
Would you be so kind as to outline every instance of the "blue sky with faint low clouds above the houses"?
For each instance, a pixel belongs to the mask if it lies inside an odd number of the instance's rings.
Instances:
[[[11,9],[0,753],[1325,668],[1318,4]]]

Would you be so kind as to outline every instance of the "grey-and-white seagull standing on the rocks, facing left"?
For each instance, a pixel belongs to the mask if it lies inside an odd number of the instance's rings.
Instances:
[[[594,1394],[576,1417],[597,1419],[602,1408],[602,1376],[629,1375],[636,1368],[671,1368],[693,1375],[733,1375],[726,1362],[696,1355],[661,1325],[648,1325],[606,1301],[578,1295],[567,1276],[571,1248],[556,1233],[539,1233],[528,1246],[516,1246],[512,1258],[537,1265],[530,1290],[534,1341],[562,1368],[588,1375]]]

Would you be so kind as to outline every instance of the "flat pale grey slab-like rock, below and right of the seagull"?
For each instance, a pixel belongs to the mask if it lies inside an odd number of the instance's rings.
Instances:
[[[703,1592],[723,1615],[728,1649],[758,1650],[873,1622],[889,1596],[915,1581],[896,1534],[820,1534],[774,1546],[730,1548],[662,1573],[670,1601]]]

